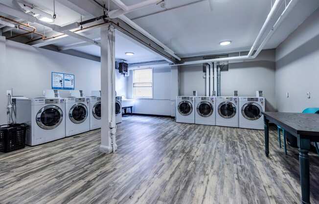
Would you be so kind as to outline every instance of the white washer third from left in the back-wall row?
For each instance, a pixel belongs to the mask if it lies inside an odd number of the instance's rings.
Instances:
[[[238,128],[238,97],[216,97],[216,126]]]

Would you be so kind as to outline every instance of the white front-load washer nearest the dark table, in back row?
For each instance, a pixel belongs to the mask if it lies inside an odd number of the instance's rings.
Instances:
[[[239,97],[239,128],[264,129],[264,97]]]

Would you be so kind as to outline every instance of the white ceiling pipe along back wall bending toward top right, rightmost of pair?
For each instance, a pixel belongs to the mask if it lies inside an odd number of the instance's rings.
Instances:
[[[278,0],[276,0],[278,1]],[[276,21],[276,23],[273,25],[273,27],[271,28],[271,30],[269,31],[269,33],[266,35],[265,39],[263,40],[263,42],[260,44],[260,46],[258,47],[257,51],[254,53],[254,55],[243,55],[243,56],[234,56],[234,57],[223,57],[223,58],[216,58],[216,59],[205,59],[205,60],[196,60],[196,61],[187,61],[184,62],[182,64],[172,64],[170,66],[182,66],[182,65],[192,65],[192,64],[204,64],[204,63],[210,63],[210,62],[224,62],[224,61],[236,61],[236,60],[247,60],[247,59],[254,59],[258,56],[258,54],[260,53],[260,51],[262,51],[262,49],[264,48],[264,46],[266,45],[266,43],[269,41],[269,39],[272,37],[274,31],[280,26],[280,24],[282,23],[282,21],[287,17],[287,15],[289,14],[289,12],[295,7],[296,3],[299,0],[291,0],[288,5],[286,6],[285,10],[281,13],[281,15],[279,16],[278,20]],[[275,9],[275,7],[273,6],[272,9]],[[274,15],[274,12],[272,12],[272,15]],[[268,19],[268,18],[267,18]],[[265,23],[269,23],[269,21],[265,21]],[[266,25],[268,26],[268,25]],[[264,27],[264,26],[263,26]],[[257,37],[258,38],[258,37]],[[256,40],[258,40],[256,38]],[[255,41],[256,41],[255,40]],[[260,39],[259,39],[260,40]]]

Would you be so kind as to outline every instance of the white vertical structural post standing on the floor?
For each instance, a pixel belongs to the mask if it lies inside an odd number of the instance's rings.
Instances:
[[[115,32],[110,24],[101,27],[101,145],[100,151],[117,149],[115,141]]]

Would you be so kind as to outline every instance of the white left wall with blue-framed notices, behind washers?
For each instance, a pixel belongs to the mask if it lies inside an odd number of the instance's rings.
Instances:
[[[43,97],[43,90],[51,89],[51,72],[75,75],[75,89],[90,96],[100,90],[100,62],[55,51],[36,48],[0,36],[0,124],[6,123],[5,90],[13,88],[15,96]],[[116,91],[126,95],[127,79],[116,70]],[[68,97],[67,90],[60,90]]]

